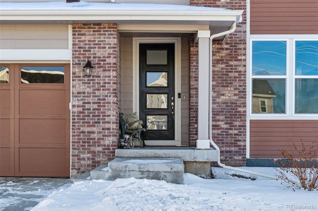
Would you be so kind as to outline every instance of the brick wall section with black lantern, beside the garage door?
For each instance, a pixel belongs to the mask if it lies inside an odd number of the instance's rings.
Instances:
[[[94,67],[92,76],[83,74],[87,58]],[[119,134],[118,65],[116,24],[73,24],[73,177],[115,157]]]

